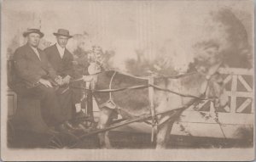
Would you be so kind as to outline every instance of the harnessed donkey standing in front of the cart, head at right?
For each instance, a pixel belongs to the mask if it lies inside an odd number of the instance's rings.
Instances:
[[[209,67],[208,70],[198,69],[187,75],[177,78],[158,77],[154,79],[154,86],[173,92],[162,91],[154,88],[154,109],[155,113],[174,110],[175,115],[166,113],[158,115],[158,132],[156,134],[156,148],[166,148],[172,126],[177,118],[183,113],[190,104],[199,98],[212,98],[215,106],[225,106],[228,97],[224,89],[224,81],[218,73],[219,64]],[[124,75],[114,71],[100,73],[96,83],[96,89],[123,88],[135,85],[147,85],[148,80]],[[125,119],[134,118],[142,115],[150,115],[148,88],[127,89],[119,92],[96,92],[96,102],[100,105],[100,116],[98,128],[106,128],[110,125],[113,115],[118,113]],[[110,98],[110,100],[109,100]],[[182,108],[182,109],[179,109]],[[102,147],[111,148],[108,131],[100,133],[100,143]]]

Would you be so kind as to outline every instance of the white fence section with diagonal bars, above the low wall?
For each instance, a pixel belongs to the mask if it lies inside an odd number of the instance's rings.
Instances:
[[[223,75],[227,95],[230,101],[219,113],[229,114],[253,114],[253,70],[238,68],[221,68],[219,73]],[[193,110],[194,108],[189,108]],[[213,112],[214,107],[210,101],[201,103],[197,108],[199,111]]]

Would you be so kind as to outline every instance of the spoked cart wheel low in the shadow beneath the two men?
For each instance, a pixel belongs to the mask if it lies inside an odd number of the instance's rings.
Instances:
[[[74,148],[79,142],[79,137],[72,133],[59,133],[50,138],[48,148]]]

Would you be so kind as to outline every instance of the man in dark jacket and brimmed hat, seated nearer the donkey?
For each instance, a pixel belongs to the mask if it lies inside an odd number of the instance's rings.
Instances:
[[[69,35],[69,31],[65,29],[59,29],[57,32],[53,33],[56,36],[56,41],[53,46],[47,47],[44,49],[47,58],[49,59],[50,64],[52,64],[53,68],[57,72],[57,75],[61,76],[62,81],[62,89],[67,89],[69,87],[69,83],[71,78],[77,78],[79,75],[75,72],[73,68],[73,54],[70,53],[66,46],[69,38],[73,36]],[[71,87],[81,87],[83,81],[73,82]],[[63,90],[65,91],[65,90]],[[64,96],[72,96],[72,98],[64,98]],[[82,92],[79,89],[69,88],[62,94],[61,102],[68,104],[70,107],[75,106],[76,114],[75,116],[84,115],[81,110],[81,98]],[[67,101],[69,103],[67,103]],[[72,104],[72,105],[71,105]],[[67,115],[69,120],[72,120],[72,111]],[[68,125],[73,127],[72,125]]]

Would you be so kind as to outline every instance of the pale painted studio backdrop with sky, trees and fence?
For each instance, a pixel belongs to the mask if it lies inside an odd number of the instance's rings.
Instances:
[[[44,32],[40,48],[55,43],[57,29],[68,29],[73,38],[67,48],[74,57],[93,46],[102,47],[106,70],[131,75],[184,74],[195,59],[205,64],[221,59],[229,103],[217,110],[211,101],[192,106],[171,134],[243,139],[246,147],[252,147],[252,6],[249,1],[6,1],[2,55],[12,59],[15,49],[26,43],[22,32],[35,26]],[[198,48],[206,42],[217,44],[218,54],[200,53]],[[9,90],[8,98],[11,116],[17,107],[15,93]],[[96,103],[94,113],[99,115]],[[143,123],[117,130],[151,132]]]

